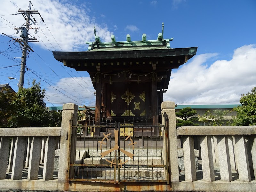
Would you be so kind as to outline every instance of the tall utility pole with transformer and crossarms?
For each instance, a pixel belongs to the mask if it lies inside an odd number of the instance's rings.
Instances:
[[[20,35],[21,38],[16,38],[15,42],[18,42],[23,47],[22,58],[21,58],[21,67],[20,67],[19,88],[21,88],[21,87],[23,88],[23,85],[24,85],[27,51],[34,52],[33,49],[28,45],[28,42],[39,42],[39,41],[35,41],[37,39],[35,37],[31,37],[31,35],[28,33],[29,29],[36,29],[36,33],[37,33],[38,28],[30,27],[31,26],[30,21],[35,25],[36,20],[33,18],[32,14],[40,14],[37,10],[31,10],[31,5],[32,5],[32,3],[31,3],[31,1],[29,1],[28,10],[20,10],[19,9],[19,11],[18,11],[19,13],[13,14],[13,15],[22,14],[24,19],[26,20],[25,27],[21,26],[20,28],[14,28],[17,30],[17,34],[19,33],[19,30],[20,30],[20,34],[21,34]],[[30,16],[32,16],[34,21],[30,18]]]

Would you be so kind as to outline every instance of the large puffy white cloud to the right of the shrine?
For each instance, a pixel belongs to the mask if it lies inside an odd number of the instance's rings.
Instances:
[[[256,45],[239,47],[231,60],[207,65],[207,60],[216,55],[194,56],[173,72],[164,100],[179,104],[239,103],[241,94],[256,86]]]

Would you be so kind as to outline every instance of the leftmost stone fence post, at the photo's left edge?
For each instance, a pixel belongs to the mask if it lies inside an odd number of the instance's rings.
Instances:
[[[0,142],[0,179],[5,179],[10,137],[1,137]]]

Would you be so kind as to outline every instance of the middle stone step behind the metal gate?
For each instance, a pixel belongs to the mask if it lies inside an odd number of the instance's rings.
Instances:
[[[110,164],[107,160],[112,161],[114,157],[111,158],[96,158],[96,157],[89,157],[84,159],[84,164]],[[120,157],[122,159],[122,162],[129,160],[125,164],[149,164],[149,165],[161,165],[164,164],[164,160],[161,157],[134,157],[133,159],[129,159],[129,157]]]

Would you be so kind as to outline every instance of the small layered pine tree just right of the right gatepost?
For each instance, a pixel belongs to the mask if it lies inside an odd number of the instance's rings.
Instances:
[[[191,109],[191,107],[185,107],[175,114],[176,117],[181,118],[176,119],[176,126],[199,126],[199,124],[193,123],[198,120],[198,117],[193,117],[193,115],[196,115],[195,109]]]

